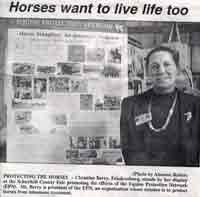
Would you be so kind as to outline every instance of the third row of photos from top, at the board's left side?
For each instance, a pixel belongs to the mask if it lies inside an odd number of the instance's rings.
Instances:
[[[86,79],[72,79],[69,77],[32,78],[29,76],[13,76],[15,99],[46,99],[47,90],[55,93],[87,92]],[[47,87],[48,86],[48,87]]]

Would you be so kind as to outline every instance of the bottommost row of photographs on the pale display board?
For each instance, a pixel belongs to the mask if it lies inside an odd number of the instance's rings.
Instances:
[[[66,150],[66,159],[73,164],[123,165],[124,163],[120,149]]]

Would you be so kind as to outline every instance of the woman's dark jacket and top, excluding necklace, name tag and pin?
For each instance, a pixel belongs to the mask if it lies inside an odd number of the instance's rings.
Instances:
[[[152,97],[152,124],[161,128],[172,106],[175,92],[156,95],[149,90],[122,102],[120,135],[127,165],[197,166],[199,162],[199,99],[177,92],[177,103],[166,130],[155,132],[147,122],[136,125],[136,117],[148,112]],[[187,121],[187,113],[192,117]]]

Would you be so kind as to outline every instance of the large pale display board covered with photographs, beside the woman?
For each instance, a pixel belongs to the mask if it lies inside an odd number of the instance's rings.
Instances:
[[[8,162],[122,162],[127,34],[100,25],[8,29]]]

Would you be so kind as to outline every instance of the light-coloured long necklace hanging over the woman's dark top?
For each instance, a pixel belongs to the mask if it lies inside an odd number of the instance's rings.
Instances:
[[[155,128],[155,127],[153,126],[152,120],[151,120],[151,121],[148,122],[148,126],[149,126],[149,128],[150,128],[151,130],[153,130],[153,131],[155,131],[155,132],[158,133],[158,132],[164,131],[164,130],[167,128],[167,126],[168,126],[168,124],[169,124],[169,122],[170,122],[170,120],[171,120],[171,117],[172,117],[172,115],[173,115],[173,113],[174,113],[174,108],[175,108],[176,102],[177,102],[177,93],[176,93],[176,95],[175,95],[175,98],[174,98],[174,100],[173,100],[172,106],[171,106],[171,108],[170,108],[170,110],[169,110],[169,112],[168,112],[166,121],[165,121],[165,123],[163,124],[163,126],[160,127],[160,128]],[[152,117],[151,107],[152,107],[152,97],[150,98],[150,102],[149,102],[149,104],[148,104],[148,113],[150,113],[150,114],[151,114],[151,117]]]

